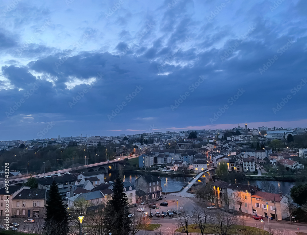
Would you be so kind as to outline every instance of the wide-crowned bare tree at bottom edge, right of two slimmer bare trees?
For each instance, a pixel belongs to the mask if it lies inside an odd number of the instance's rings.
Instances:
[[[218,211],[212,216],[211,229],[214,234],[226,235],[235,226],[237,218],[230,213]]]

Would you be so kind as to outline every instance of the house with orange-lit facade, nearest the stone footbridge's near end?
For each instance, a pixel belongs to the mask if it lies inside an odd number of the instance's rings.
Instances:
[[[221,207],[228,207],[227,186],[229,183],[222,180],[215,181],[211,184],[213,190],[213,202]]]

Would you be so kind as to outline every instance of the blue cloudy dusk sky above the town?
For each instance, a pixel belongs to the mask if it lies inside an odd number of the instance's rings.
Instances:
[[[305,0],[3,0],[0,139],[306,127]]]

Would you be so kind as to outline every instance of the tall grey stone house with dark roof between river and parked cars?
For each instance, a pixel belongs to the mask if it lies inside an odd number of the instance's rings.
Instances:
[[[134,181],[135,190],[147,192],[148,199],[154,199],[162,195],[161,179],[155,175],[141,175]]]

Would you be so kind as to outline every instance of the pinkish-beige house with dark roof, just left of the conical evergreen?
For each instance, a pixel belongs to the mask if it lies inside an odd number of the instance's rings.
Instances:
[[[12,199],[12,215],[22,218],[44,217],[46,188],[23,189]]]

